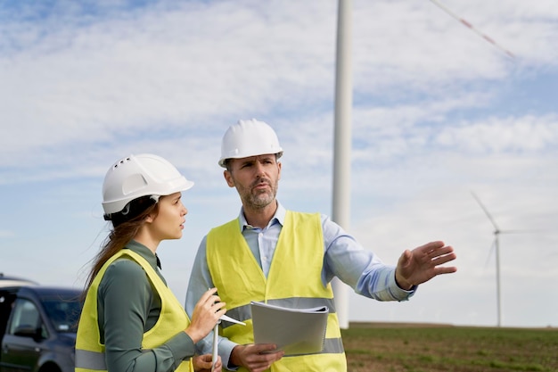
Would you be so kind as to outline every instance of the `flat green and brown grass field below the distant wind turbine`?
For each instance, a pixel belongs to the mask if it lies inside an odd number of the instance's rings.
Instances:
[[[349,372],[558,372],[558,328],[350,323]]]

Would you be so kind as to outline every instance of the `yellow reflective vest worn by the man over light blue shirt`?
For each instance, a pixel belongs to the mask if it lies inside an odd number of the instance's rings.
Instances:
[[[324,350],[316,354],[284,356],[270,369],[283,371],[347,370],[339,320],[331,285],[321,279],[324,236],[318,213],[287,211],[267,278],[241,234],[239,220],[215,227],[207,236],[209,273],[227,315],[246,326],[221,323],[221,335],[234,343],[254,343],[250,301],[297,308],[326,305],[330,309]],[[246,371],[240,368],[239,371]]]

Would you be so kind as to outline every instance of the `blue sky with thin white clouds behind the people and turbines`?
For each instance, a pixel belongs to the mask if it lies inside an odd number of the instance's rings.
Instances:
[[[395,263],[432,240],[458,272],[410,302],[350,295],[349,320],[558,327],[558,8],[551,0],[353,2],[349,231]],[[240,207],[217,166],[238,119],[284,149],[278,199],[332,209],[337,2],[0,1],[0,271],[81,286],[107,235],[104,173],[157,153],[196,185],[163,274],[184,299],[210,227]]]

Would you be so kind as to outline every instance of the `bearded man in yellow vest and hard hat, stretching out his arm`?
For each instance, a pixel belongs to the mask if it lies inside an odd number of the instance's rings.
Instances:
[[[219,165],[242,200],[237,219],[215,227],[201,241],[186,295],[186,311],[208,288],[217,287],[227,314],[246,327],[222,324],[219,356],[232,370],[346,371],[341,330],[333,304],[333,277],[356,293],[379,301],[406,301],[420,285],[455,260],[442,242],[406,250],[397,267],[364,250],[353,236],[319,213],[287,211],[275,199],[283,149],[273,128],[258,120],[240,120],[226,131]],[[254,344],[250,301],[283,306],[330,308],[324,351],[284,356],[274,344]],[[211,335],[198,343],[209,352]]]

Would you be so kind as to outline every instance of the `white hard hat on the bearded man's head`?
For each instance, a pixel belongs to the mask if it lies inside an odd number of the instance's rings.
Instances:
[[[263,121],[238,120],[223,136],[219,165],[226,168],[227,159],[241,159],[266,153],[275,153],[277,158],[283,155],[275,130]]]

